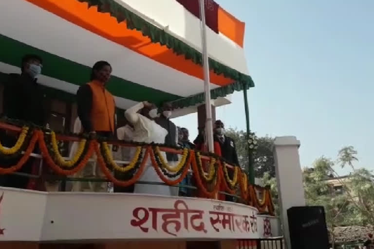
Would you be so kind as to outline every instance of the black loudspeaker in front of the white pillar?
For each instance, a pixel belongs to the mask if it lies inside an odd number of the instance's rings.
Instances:
[[[325,210],[322,206],[287,210],[292,249],[329,249]]]

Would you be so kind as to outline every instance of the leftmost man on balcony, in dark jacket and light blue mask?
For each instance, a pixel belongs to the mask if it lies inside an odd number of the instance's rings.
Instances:
[[[22,58],[21,74],[9,74],[4,84],[3,116],[35,125],[45,125],[43,94],[37,84],[37,75],[41,73],[41,68],[42,59],[35,54],[28,54]],[[5,146],[12,147],[17,141],[18,134],[4,132],[1,138]],[[4,160],[2,165],[14,165],[17,161]],[[20,172],[31,173],[34,161],[33,158],[28,160]],[[0,177],[0,186],[26,188],[28,180],[23,176],[4,175]]]

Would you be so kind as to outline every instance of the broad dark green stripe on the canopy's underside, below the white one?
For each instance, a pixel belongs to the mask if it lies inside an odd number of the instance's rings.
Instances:
[[[43,74],[52,78],[66,81],[75,85],[89,82],[91,68],[71,60],[59,57],[17,40],[0,35],[0,60],[4,63],[19,67],[21,58],[27,53],[38,54],[43,59]],[[133,101],[148,100],[155,104],[163,101],[173,101],[182,97],[161,90],[148,88],[131,81],[112,76],[107,88],[112,94]]]

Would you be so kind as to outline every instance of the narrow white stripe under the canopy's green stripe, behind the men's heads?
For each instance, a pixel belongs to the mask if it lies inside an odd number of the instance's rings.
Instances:
[[[9,65],[9,64],[5,64],[3,62],[0,62],[0,72],[3,72],[3,73],[19,73],[20,68]],[[50,87],[50,88],[54,88],[54,89],[59,89],[59,90],[62,90],[62,91],[73,93],[73,94],[76,94],[76,91],[79,88],[79,86],[77,86],[77,85],[74,85],[74,84],[71,84],[69,82],[59,80],[59,79],[51,78],[51,77],[45,76],[45,75],[39,75],[37,77],[37,82],[40,85]],[[119,107],[119,108],[122,108],[122,109],[127,109],[129,107],[134,106],[137,103],[135,101],[120,98],[120,97],[117,97],[117,96],[114,96],[114,101],[115,101],[116,107]]]

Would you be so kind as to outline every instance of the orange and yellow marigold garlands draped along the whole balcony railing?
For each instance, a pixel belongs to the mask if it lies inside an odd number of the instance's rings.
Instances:
[[[27,143],[29,143],[27,147],[25,143],[26,137],[28,138]],[[109,150],[108,144],[105,142],[102,143],[102,149],[104,153],[100,153],[100,150],[98,148],[98,142],[96,140],[92,140],[89,142],[87,146],[87,153],[83,155],[84,150],[85,150],[85,145],[87,144],[87,140],[82,139],[80,141],[79,149],[77,153],[75,154],[75,156],[73,157],[73,159],[70,161],[66,161],[61,157],[61,155],[58,152],[56,133],[51,132],[51,142],[52,142],[52,148],[53,148],[52,152],[55,154],[57,163],[60,164],[60,165],[56,165],[56,163],[54,162],[53,158],[51,157],[49,153],[46,142],[44,141],[43,132],[39,129],[35,129],[33,130],[33,132],[29,132],[29,128],[27,126],[24,126],[22,127],[22,130],[20,132],[17,142],[12,148],[9,148],[9,149],[4,148],[0,143],[0,155],[2,154],[3,157],[6,155],[12,155],[16,153],[19,153],[20,155],[21,153],[20,150],[25,150],[24,154],[22,155],[22,157],[20,158],[20,160],[18,161],[16,165],[13,165],[11,167],[6,167],[6,168],[4,167],[1,168],[0,166],[0,175],[10,174],[15,171],[18,171],[30,158],[30,155],[32,151],[34,150],[37,142],[39,143],[39,148],[42,152],[42,156],[46,160],[47,164],[55,172],[61,175],[73,175],[77,171],[81,170],[86,165],[87,161],[92,157],[93,152],[95,151],[95,153],[97,154],[97,161],[100,165],[101,170],[104,172],[105,176],[108,179],[110,179],[115,185],[129,186],[129,185],[136,183],[136,181],[141,177],[141,175],[143,174],[144,168],[145,168],[145,164],[148,160],[148,156],[150,156],[152,166],[154,167],[157,175],[168,185],[175,185],[175,184],[180,183],[188,174],[188,169],[190,165],[193,170],[197,186],[199,187],[199,189],[202,190],[204,195],[208,197],[214,197],[219,191],[221,181],[224,181],[226,192],[230,194],[235,194],[235,189],[232,189],[232,188],[235,188],[235,186],[239,183],[241,197],[243,198],[243,200],[247,202],[247,204],[256,207],[260,213],[269,213],[270,215],[274,215],[274,204],[273,204],[269,189],[267,188],[262,189],[259,186],[248,184],[247,176],[238,167],[234,168],[234,176],[233,176],[233,179],[231,180],[229,178],[227,167],[224,164],[224,162],[221,162],[221,160],[215,160],[215,158],[213,157],[210,160],[209,173],[206,176],[201,163],[199,163],[201,162],[200,153],[196,152],[195,154],[195,151],[187,150],[187,149],[184,150],[183,157],[178,163],[178,165],[171,167],[166,163],[165,159],[162,157],[159,147],[154,148],[153,149],[154,151],[153,151],[151,146],[148,146],[147,149],[145,150],[145,155],[144,155],[143,160],[139,159],[139,152],[142,152],[143,150],[141,149],[140,145],[137,145],[135,157],[131,160],[131,165],[128,165],[126,167],[120,167],[116,165],[115,163],[112,163],[114,162],[112,160],[112,153]],[[156,155],[153,152],[155,152]],[[104,157],[109,161],[108,164],[112,164],[113,168],[115,168],[116,170],[119,170],[121,172],[126,172],[126,171],[130,171],[131,169],[133,169],[134,172],[135,170],[137,170],[136,174],[133,176],[133,178],[131,178],[131,180],[128,180],[128,181],[117,180],[116,178],[112,176],[112,172],[107,168],[107,164],[102,155],[104,155]],[[71,170],[61,169],[60,166],[64,166],[64,167],[74,166],[74,164],[81,157],[83,157],[83,159],[81,159],[79,164],[76,165],[74,169],[71,169]],[[156,159],[159,159],[160,161],[157,162]],[[129,166],[132,166],[132,164],[134,165],[137,164],[138,166],[140,164],[139,169],[137,168],[135,169],[134,168],[135,166],[129,167]],[[199,164],[201,165],[201,167]],[[215,164],[217,164],[218,166],[216,166]],[[163,173],[161,172],[161,171],[164,172],[165,170],[176,172],[178,175],[181,174],[181,176],[178,179],[170,180],[167,177],[165,177]],[[208,191],[206,187],[203,185],[203,181],[202,181],[203,178],[206,181],[216,179],[215,186],[212,191]],[[263,190],[262,198],[258,198],[256,194],[256,188],[261,188]]]

